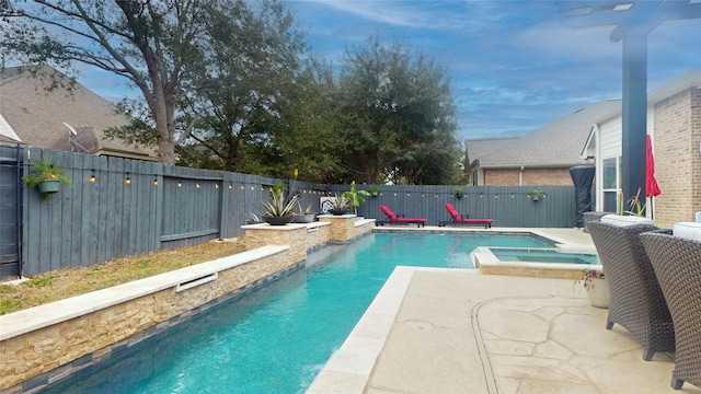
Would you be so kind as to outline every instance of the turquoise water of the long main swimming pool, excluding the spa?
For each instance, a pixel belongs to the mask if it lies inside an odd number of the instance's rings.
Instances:
[[[312,253],[307,268],[124,349],[45,393],[303,393],[395,266],[473,267],[476,246],[522,235],[377,233]]]

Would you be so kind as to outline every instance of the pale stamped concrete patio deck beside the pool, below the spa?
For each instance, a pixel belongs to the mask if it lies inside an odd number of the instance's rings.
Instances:
[[[701,393],[606,315],[568,279],[398,267],[308,393]]]

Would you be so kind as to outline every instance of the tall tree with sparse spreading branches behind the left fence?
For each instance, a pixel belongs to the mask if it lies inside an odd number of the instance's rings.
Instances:
[[[183,131],[177,125],[191,126],[186,114],[177,118],[179,106],[193,97],[188,89],[203,82],[202,76],[195,78],[193,72],[205,59],[216,58],[225,32],[240,33],[237,23],[245,21],[227,19],[227,12],[240,15],[249,7],[267,9],[268,2],[35,0],[27,4],[2,0],[0,49],[28,65],[71,69],[82,62],[126,78],[140,90],[150,118],[137,117],[138,121],[122,130],[122,136],[133,141],[154,137],[160,161],[174,164],[176,135]],[[218,28],[212,28],[215,21]],[[275,38],[273,34],[266,38]],[[227,40],[250,43],[257,37],[237,35]],[[265,46],[266,42],[260,44]],[[143,113],[137,106],[131,113],[139,112]]]

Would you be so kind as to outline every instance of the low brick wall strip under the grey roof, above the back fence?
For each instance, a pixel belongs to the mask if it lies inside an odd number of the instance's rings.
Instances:
[[[484,170],[485,186],[520,186],[520,169]],[[570,169],[524,169],[522,186],[572,186]]]

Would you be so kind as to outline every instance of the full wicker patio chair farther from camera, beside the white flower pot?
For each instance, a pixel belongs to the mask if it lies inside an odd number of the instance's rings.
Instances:
[[[658,228],[604,222],[587,225],[609,282],[606,328],[616,323],[623,326],[642,345],[645,361],[655,352],[675,351],[671,314],[639,235]]]

